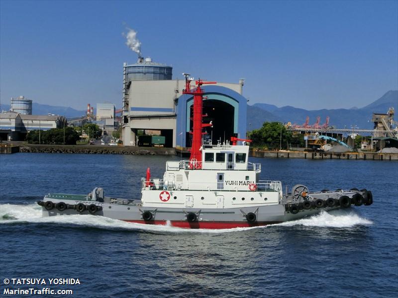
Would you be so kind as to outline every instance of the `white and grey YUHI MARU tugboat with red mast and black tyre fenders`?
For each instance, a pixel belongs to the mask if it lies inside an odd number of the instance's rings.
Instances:
[[[322,190],[310,192],[295,185],[291,193],[281,181],[259,180],[260,163],[248,161],[251,140],[231,138],[213,145],[203,141],[203,84],[186,77],[184,94],[194,96],[193,141],[189,160],[168,161],[163,179],[141,179],[141,199],[104,196],[95,188],[88,195],[48,194],[37,202],[43,216],[91,214],[140,224],[170,224],[184,228],[234,228],[281,223],[311,216],[321,210],[369,206],[372,192]],[[238,145],[238,142],[241,144]]]

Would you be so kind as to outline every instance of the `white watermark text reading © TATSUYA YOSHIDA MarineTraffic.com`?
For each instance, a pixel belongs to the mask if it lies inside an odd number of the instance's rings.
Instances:
[[[59,286],[76,286],[78,278],[5,278],[3,295],[73,295],[70,289],[52,289]],[[28,287],[27,287],[28,286]]]

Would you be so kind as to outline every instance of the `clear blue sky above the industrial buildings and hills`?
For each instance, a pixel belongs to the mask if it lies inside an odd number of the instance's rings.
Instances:
[[[1,103],[121,106],[125,45],[249,104],[362,107],[398,89],[398,1],[0,1]]]

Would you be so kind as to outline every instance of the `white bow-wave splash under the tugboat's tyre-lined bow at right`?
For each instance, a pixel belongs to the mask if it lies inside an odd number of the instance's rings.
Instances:
[[[317,215],[313,215],[309,218],[300,219],[291,222],[285,222],[281,224],[273,224],[279,226],[318,226],[318,227],[353,227],[355,225],[368,225],[373,224],[368,219],[361,218],[353,210],[335,210],[331,212],[321,211]]]

